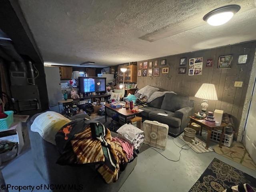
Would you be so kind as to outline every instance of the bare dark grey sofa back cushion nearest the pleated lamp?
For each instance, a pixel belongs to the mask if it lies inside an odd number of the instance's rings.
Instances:
[[[166,93],[162,102],[161,109],[175,112],[181,108],[189,106],[188,96],[182,96],[174,93]]]

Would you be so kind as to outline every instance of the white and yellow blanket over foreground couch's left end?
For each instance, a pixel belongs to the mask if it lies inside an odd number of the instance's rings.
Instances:
[[[38,132],[44,140],[56,145],[56,133],[70,121],[59,113],[46,111],[35,118],[30,129],[33,132]]]

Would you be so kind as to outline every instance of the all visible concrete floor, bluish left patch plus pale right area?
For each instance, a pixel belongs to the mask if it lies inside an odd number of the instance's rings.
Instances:
[[[206,135],[203,134],[203,136],[205,137]],[[170,159],[178,160],[180,148],[174,144],[173,140],[179,146],[185,144],[180,138],[168,136],[166,150],[157,150]],[[212,142],[211,146],[214,145],[216,143]],[[220,156],[215,152],[196,154],[192,149],[188,151],[183,150],[180,161],[171,162],[145,145],[138,155],[138,163],[135,169],[119,192],[187,192],[213,158],[218,158],[256,177],[256,171]],[[5,165],[2,168],[2,173],[7,184],[34,186],[45,184],[33,166],[32,154],[29,148],[25,148],[22,155]]]

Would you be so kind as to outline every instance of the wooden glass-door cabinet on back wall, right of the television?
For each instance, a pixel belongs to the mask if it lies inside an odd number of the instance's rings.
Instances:
[[[126,72],[122,72],[120,68],[127,68]],[[128,65],[128,66],[119,66],[118,67],[118,80],[120,82],[123,81],[124,75],[124,82],[128,83],[136,83],[137,82],[137,66],[136,65]]]

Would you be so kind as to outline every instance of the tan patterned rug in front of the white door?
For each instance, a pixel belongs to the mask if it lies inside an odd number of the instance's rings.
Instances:
[[[216,146],[214,151],[234,162],[240,163],[252,170],[256,170],[256,164],[252,161],[252,158],[250,158],[244,144],[240,142],[233,142],[231,147],[222,146],[222,148],[220,148],[219,146]]]

